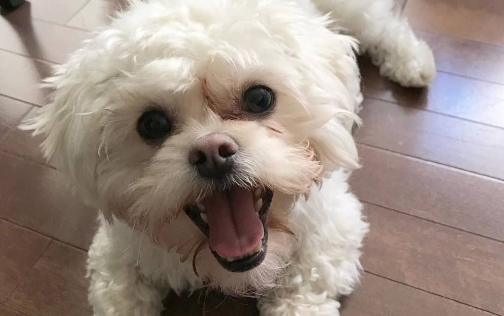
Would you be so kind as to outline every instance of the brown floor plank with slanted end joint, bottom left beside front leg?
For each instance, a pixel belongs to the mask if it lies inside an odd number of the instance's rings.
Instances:
[[[86,253],[53,242],[6,305],[29,315],[92,315],[87,302]]]

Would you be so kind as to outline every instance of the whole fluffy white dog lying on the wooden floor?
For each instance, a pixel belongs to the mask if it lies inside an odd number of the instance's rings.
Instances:
[[[203,287],[339,313],[368,229],[347,185],[359,43],[403,86],[434,76],[393,0],[132,0],[56,67],[24,128],[100,210],[95,315]]]

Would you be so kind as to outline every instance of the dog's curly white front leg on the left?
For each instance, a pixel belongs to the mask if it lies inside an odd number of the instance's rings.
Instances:
[[[113,235],[105,225],[102,220],[88,253],[89,302],[94,315],[159,315],[161,293],[139,272],[134,251],[123,248],[129,238]]]

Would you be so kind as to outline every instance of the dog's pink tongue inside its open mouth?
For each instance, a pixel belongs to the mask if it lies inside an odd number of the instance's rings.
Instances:
[[[241,257],[263,239],[263,223],[254,208],[252,191],[233,188],[204,200],[210,248],[221,257]]]

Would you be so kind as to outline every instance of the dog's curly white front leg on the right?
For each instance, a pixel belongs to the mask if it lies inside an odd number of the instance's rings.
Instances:
[[[358,283],[359,248],[368,230],[346,177],[337,172],[297,203],[291,222],[297,249],[280,286],[259,300],[262,316],[339,315],[338,296]]]

